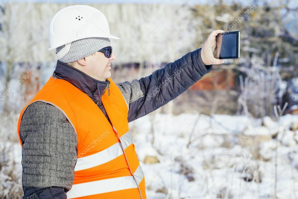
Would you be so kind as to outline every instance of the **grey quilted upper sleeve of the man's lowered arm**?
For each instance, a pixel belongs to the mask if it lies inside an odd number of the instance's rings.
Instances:
[[[77,135],[66,116],[41,101],[27,107],[21,120],[23,187],[70,190],[77,161]]]

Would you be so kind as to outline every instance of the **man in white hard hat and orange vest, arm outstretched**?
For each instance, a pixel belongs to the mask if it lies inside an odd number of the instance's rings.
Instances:
[[[213,31],[202,49],[147,77],[115,84],[110,38],[119,38],[110,34],[103,13],[85,5],[60,10],[50,25],[56,69],[18,122],[23,198],[145,199],[128,122],[173,100],[212,64],[223,63],[212,54],[222,32]]]

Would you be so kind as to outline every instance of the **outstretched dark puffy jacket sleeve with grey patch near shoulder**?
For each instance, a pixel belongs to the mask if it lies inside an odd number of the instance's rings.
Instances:
[[[212,65],[203,64],[200,52],[187,53],[147,77],[117,84],[129,104],[128,121],[167,104],[210,72]]]

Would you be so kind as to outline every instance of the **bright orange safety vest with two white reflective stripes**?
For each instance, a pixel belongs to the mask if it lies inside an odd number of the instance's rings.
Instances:
[[[60,109],[75,129],[77,163],[67,198],[146,199],[144,173],[128,129],[128,105],[117,85],[108,80],[110,93],[104,92],[101,101],[112,125],[88,95],[53,77],[21,111],[19,138],[22,115],[35,101]]]

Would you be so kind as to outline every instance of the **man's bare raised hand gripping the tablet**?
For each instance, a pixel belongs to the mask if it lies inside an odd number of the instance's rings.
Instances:
[[[205,43],[203,44],[203,47],[201,49],[201,59],[203,61],[203,64],[205,65],[211,65],[211,64],[223,64],[224,60],[216,59],[213,56],[213,51],[215,48],[215,37],[219,33],[224,33],[223,30],[213,30],[212,33],[209,35]]]

